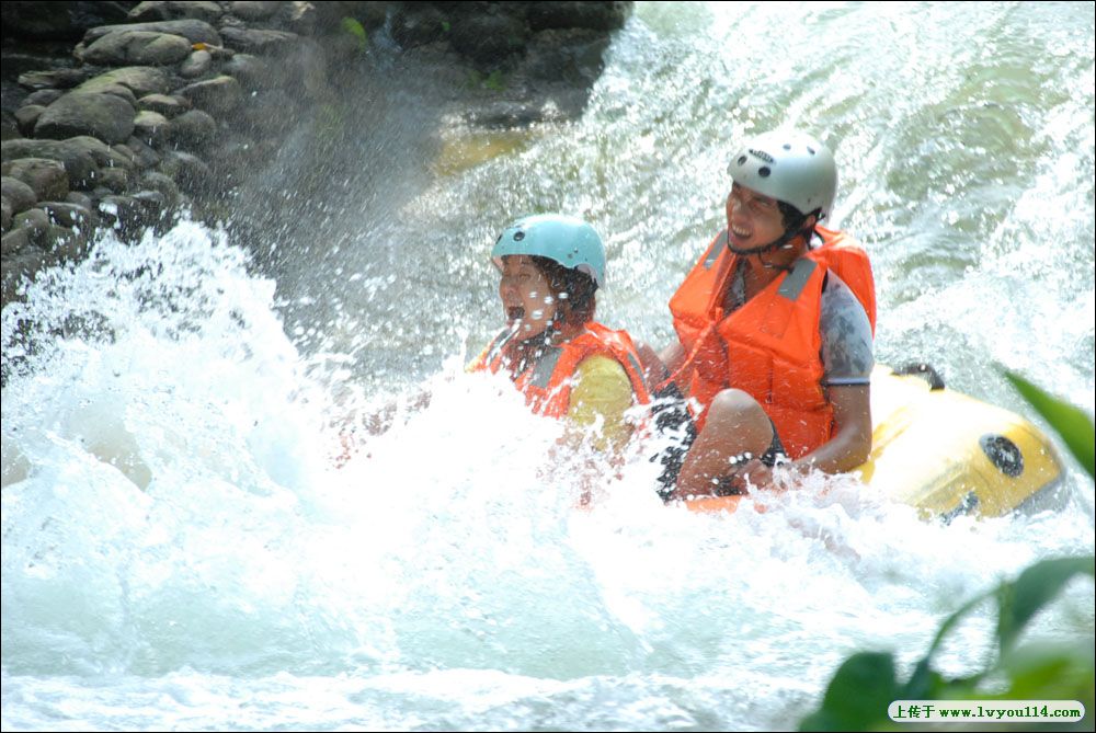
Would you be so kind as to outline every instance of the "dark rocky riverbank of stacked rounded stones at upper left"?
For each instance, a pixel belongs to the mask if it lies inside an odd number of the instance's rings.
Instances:
[[[581,113],[626,2],[7,2],[2,302],[95,231],[229,220],[363,75],[433,77],[460,124]],[[354,127],[344,135],[368,138]]]

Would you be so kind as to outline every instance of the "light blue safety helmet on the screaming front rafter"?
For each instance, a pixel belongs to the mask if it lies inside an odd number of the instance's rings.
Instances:
[[[491,250],[491,259],[502,268],[502,259],[511,254],[548,257],[564,267],[578,270],[605,285],[605,245],[594,228],[582,219],[562,214],[524,216],[506,227]]]

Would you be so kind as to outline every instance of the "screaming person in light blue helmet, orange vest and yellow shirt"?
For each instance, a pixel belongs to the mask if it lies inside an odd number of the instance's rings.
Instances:
[[[507,327],[470,365],[507,375],[529,408],[595,423],[595,445],[620,447],[626,412],[650,401],[631,339],[594,320],[605,283],[605,248],[585,221],[558,214],[523,217],[499,236],[491,257]]]

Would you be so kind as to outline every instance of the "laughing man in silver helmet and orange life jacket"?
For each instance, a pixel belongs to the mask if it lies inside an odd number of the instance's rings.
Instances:
[[[875,285],[867,254],[824,229],[833,156],[794,130],[758,135],[731,159],[727,229],[670,301],[678,343],[659,356],[654,397],[690,398],[681,448],[663,456],[663,495],[766,485],[778,460],[830,473],[871,449]]]

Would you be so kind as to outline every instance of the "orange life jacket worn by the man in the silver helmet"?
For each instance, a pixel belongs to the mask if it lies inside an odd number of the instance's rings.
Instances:
[[[701,408],[704,426],[712,398],[741,389],[765,410],[784,449],[799,458],[826,443],[833,408],[822,389],[822,286],[833,271],[864,306],[876,329],[876,290],[867,253],[847,234],[817,228],[822,245],[797,260],[761,293],[730,314],[723,298],[740,255],[720,232],[670,300],[674,329],[686,352],[674,375]]]

